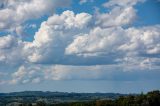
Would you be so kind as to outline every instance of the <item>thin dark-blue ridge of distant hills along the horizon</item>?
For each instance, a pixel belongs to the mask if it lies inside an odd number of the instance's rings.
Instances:
[[[70,96],[96,96],[96,97],[108,97],[108,98],[116,98],[119,96],[125,96],[127,94],[120,93],[68,93],[68,92],[50,92],[50,91],[23,91],[23,92],[11,92],[11,93],[0,93],[1,97],[6,96],[20,96],[20,97],[29,97],[29,96],[42,96],[42,97],[70,97]]]

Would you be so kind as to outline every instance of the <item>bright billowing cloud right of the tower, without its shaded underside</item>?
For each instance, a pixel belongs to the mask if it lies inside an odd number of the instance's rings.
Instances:
[[[116,54],[145,56],[159,54],[159,25],[143,28],[95,28],[82,34],[66,48],[66,54],[99,56]]]

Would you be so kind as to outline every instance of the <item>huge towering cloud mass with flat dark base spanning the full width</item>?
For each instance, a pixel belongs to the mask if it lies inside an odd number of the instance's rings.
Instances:
[[[125,62],[126,56],[158,58],[159,25],[93,28],[92,23],[87,13],[55,14],[41,24],[33,42],[1,37],[0,62],[96,65]]]

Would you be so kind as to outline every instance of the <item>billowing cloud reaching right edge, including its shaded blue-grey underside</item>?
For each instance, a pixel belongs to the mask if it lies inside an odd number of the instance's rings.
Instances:
[[[160,26],[141,28],[95,28],[88,34],[77,36],[66,48],[66,55],[100,57],[105,64],[124,63],[150,68],[159,64]],[[110,58],[111,57],[111,58]],[[137,64],[138,63],[138,64]]]

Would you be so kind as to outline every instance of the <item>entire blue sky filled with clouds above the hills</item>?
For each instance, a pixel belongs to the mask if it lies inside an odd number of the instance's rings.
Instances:
[[[1,0],[0,92],[160,89],[160,0]]]

